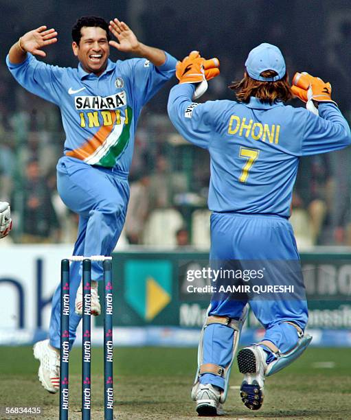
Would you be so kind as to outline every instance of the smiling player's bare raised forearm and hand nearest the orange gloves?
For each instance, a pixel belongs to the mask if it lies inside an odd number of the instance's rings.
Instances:
[[[109,30],[117,38],[118,42],[111,40],[111,47],[117,48],[122,52],[129,52],[136,56],[146,58],[155,66],[161,66],[166,62],[166,54],[158,48],[149,47],[137,39],[134,32],[124,22],[117,18],[110,21]]]

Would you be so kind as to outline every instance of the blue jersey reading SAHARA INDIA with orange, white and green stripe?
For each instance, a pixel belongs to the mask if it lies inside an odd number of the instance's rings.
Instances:
[[[60,107],[67,156],[128,172],[141,108],[172,78],[177,60],[168,53],[159,67],[145,58],[109,60],[100,76],[80,64],[47,65],[32,54],[19,65],[8,57],[6,63],[25,89]]]

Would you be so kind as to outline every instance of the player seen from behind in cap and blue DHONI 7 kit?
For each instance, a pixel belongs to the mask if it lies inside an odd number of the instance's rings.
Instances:
[[[288,222],[299,157],[331,152],[351,143],[350,128],[331,86],[297,73],[291,90],[280,49],[254,48],[245,77],[232,85],[237,101],[192,101],[196,83],[204,82],[204,59],[197,51],[177,65],[179,84],[170,91],[168,114],[185,139],[210,153],[208,206],[212,261],[295,261],[301,275],[293,229]],[[285,106],[293,93],[317,113]],[[295,272],[296,274],[296,272]],[[284,282],[291,273],[282,272]],[[292,279],[292,277],[291,277]],[[223,414],[231,364],[247,301],[212,296],[201,332],[192,398],[200,415]],[[240,396],[245,406],[262,406],[264,378],[293,362],[308,346],[308,319],[302,299],[251,300],[251,310],[265,328],[261,342],[240,350],[244,374]]]

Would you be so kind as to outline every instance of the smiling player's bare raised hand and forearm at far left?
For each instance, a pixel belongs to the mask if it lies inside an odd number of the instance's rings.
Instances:
[[[19,38],[10,48],[8,58],[12,64],[21,64],[27,58],[27,52],[34,56],[45,57],[43,47],[57,42],[57,32],[54,28],[47,30],[46,26],[41,26],[27,32]]]

